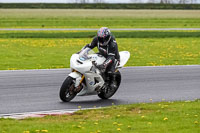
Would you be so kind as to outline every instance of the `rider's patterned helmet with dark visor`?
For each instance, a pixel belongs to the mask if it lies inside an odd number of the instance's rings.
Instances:
[[[101,46],[106,46],[111,39],[111,32],[107,27],[101,27],[97,32],[98,41]]]

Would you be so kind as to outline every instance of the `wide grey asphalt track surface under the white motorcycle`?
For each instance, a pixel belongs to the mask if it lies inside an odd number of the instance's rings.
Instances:
[[[123,68],[122,84],[111,99],[85,96],[63,103],[58,93],[68,73],[69,69],[0,71],[0,114],[200,98],[200,66]]]

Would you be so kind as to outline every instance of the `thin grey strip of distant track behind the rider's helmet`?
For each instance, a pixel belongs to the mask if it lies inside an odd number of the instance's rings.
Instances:
[[[0,31],[96,31],[97,28],[0,28]],[[200,28],[111,28],[112,31],[200,30]]]

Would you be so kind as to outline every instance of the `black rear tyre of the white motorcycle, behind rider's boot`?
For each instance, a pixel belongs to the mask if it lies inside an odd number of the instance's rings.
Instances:
[[[108,99],[115,94],[115,92],[118,90],[120,83],[121,83],[121,73],[119,71],[116,72],[116,81],[117,81],[117,87],[115,89],[108,88],[109,91],[107,91],[107,92],[102,91],[98,94],[98,96],[101,99]]]

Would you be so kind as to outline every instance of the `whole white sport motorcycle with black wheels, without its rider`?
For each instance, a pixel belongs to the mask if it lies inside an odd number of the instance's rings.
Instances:
[[[90,48],[83,49],[79,54],[73,54],[70,59],[72,72],[60,88],[60,99],[69,102],[76,95],[98,95],[102,99],[112,97],[121,83],[121,74],[118,69],[122,68],[130,58],[128,51],[121,51],[119,54],[120,64],[116,65],[115,71],[117,87],[114,89],[109,86],[104,74],[97,67],[103,64],[105,57],[95,54]]]

